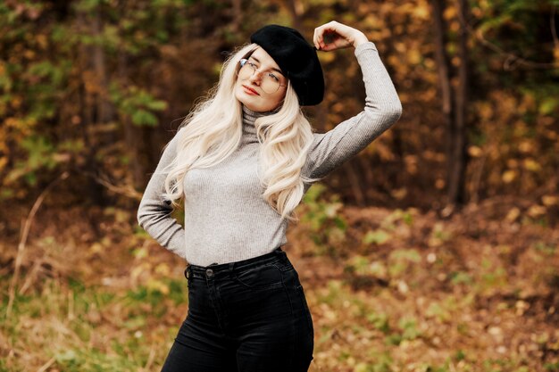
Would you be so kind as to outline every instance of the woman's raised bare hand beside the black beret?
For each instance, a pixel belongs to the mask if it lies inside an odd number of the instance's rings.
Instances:
[[[314,29],[313,43],[317,50],[330,52],[369,41],[365,34],[337,21],[330,21]]]

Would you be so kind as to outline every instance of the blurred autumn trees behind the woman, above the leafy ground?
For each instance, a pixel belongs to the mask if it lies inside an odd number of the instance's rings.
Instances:
[[[436,210],[511,195],[541,207],[533,211],[555,211],[556,6],[5,0],[0,201],[33,199],[69,170],[71,182],[57,186],[64,197],[53,203],[137,207],[163,145],[235,46],[265,23],[291,25],[310,40],[315,27],[337,20],[377,45],[404,116],[330,176],[330,192],[343,203]],[[327,93],[324,103],[305,108],[319,132],[363,109],[352,52],[319,54]]]

